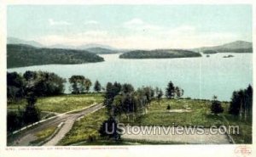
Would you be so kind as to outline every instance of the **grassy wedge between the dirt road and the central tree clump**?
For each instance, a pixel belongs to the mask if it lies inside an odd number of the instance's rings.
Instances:
[[[108,119],[107,110],[99,109],[96,112],[84,116],[80,121],[76,121],[73,128],[61,139],[58,145],[70,145],[86,141],[88,137],[99,139],[99,128],[102,122]]]

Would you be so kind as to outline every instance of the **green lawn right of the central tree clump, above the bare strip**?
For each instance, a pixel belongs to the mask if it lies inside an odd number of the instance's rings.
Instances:
[[[190,108],[191,112],[171,113],[166,108],[171,105],[171,109]],[[231,135],[236,143],[252,143],[252,124],[237,120],[228,114],[228,103],[222,103],[224,113],[212,115],[210,110],[211,101],[193,100],[193,99],[166,99],[158,101],[154,100],[148,106],[146,115],[137,116],[133,121],[122,115],[120,122],[129,123],[137,126],[222,126],[222,125],[238,125],[240,126],[239,135]],[[228,123],[228,124],[227,124]]]

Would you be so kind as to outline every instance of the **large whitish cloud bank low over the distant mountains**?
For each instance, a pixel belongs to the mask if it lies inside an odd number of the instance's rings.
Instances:
[[[94,23],[94,22],[91,22]],[[214,46],[239,39],[233,33],[202,32],[192,25],[174,28],[149,25],[140,19],[133,19],[120,25],[132,31],[119,34],[117,31],[84,31],[66,35],[41,36],[37,39],[45,45],[67,44],[79,46],[87,43],[107,44],[115,48],[198,48]],[[158,29],[155,29],[158,28]],[[150,31],[142,31],[148,29]]]

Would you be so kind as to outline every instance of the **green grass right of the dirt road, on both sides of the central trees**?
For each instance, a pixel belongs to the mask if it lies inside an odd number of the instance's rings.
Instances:
[[[171,109],[184,109],[190,108],[192,111],[188,113],[171,113],[166,107],[171,105]],[[242,122],[237,120],[234,116],[227,113],[229,103],[222,103],[224,107],[224,113],[219,115],[212,115],[210,111],[211,101],[207,100],[193,100],[193,99],[166,99],[163,98],[160,101],[154,100],[148,106],[148,112],[146,115],[137,116],[135,121],[130,118],[127,121],[125,115],[119,117],[119,122],[129,123],[139,126],[168,126],[168,125],[201,125],[209,127],[212,125],[239,125],[240,134],[232,135],[236,143],[252,143],[252,124],[249,122]],[[79,145],[134,145],[134,144],[154,144],[148,142],[112,142],[102,139],[98,133],[99,127],[102,121],[108,117],[106,109],[100,109],[95,113],[85,116],[80,121],[75,122],[72,130],[67,133],[59,145],[69,145],[73,143],[79,143]],[[94,137],[93,142],[88,142],[88,137]],[[161,144],[161,143],[155,143]],[[165,143],[162,143],[165,144]],[[170,143],[169,143],[170,144]]]

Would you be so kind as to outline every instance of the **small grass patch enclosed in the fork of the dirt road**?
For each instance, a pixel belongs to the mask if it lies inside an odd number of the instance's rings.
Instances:
[[[37,139],[32,141],[31,144],[36,144],[36,143],[43,142],[48,137],[50,137],[55,132],[56,129],[57,129],[57,126],[52,126],[52,127],[49,127],[49,128],[47,128],[43,131],[37,132],[35,134],[35,137],[37,137]]]

